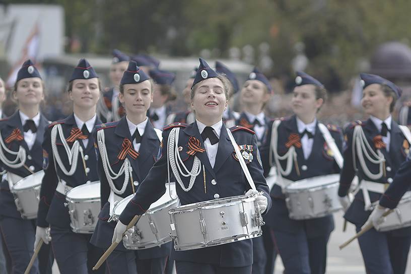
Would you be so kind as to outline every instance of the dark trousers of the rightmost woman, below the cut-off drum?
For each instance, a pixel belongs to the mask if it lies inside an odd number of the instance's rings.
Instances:
[[[357,227],[357,232],[360,231]],[[411,236],[393,236],[374,228],[358,238],[367,273],[405,273]]]

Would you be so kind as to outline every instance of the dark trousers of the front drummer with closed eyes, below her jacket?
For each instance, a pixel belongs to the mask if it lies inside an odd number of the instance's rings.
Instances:
[[[208,263],[175,261],[177,274],[250,274],[251,265],[241,267],[221,267]]]

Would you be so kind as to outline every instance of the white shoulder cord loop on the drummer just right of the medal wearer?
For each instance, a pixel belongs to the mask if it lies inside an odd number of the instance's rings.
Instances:
[[[291,146],[290,149],[287,151],[287,153],[284,154],[283,156],[280,156],[277,153],[278,127],[279,127],[280,123],[281,123],[281,120],[275,120],[272,123],[270,147],[271,147],[272,152],[274,154],[274,160],[276,161],[278,174],[281,175],[281,176],[288,176],[288,175],[290,175],[291,170],[293,169],[293,159],[295,157],[297,157],[297,153],[295,151],[294,146]],[[283,167],[280,164],[280,160],[285,160],[285,159],[287,159],[287,164],[286,164],[286,169],[284,170]],[[269,162],[270,162],[270,166],[272,166],[271,153],[269,153]]]

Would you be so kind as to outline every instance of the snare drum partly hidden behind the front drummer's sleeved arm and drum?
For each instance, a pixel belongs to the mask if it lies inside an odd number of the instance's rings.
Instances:
[[[171,191],[171,197],[169,194]],[[127,203],[134,194],[119,201],[113,210],[113,219],[118,220]],[[150,209],[141,216],[139,222],[125,232],[123,237],[124,247],[127,249],[146,249],[171,241],[170,217],[168,211],[178,205],[175,184],[166,184],[166,192],[156,202],[152,203]]]

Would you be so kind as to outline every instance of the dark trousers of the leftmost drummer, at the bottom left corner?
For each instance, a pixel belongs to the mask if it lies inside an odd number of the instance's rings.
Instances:
[[[5,252],[11,259],[11,272],[23,274],[34,253],[36,221],[2,216],[0,228],[7,249]],[[30,273],[51,274],[53,258],[48,245],[41,247],[37,258]]]

